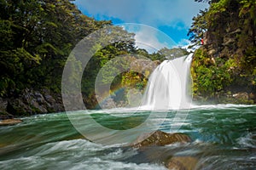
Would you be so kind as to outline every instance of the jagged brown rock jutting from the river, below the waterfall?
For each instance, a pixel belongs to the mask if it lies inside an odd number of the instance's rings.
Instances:
[[[163,146],[166,144],[174,143],[188,143],[191,139],[188,135],[183,133],[165,133],[160,130],[154,133],[145,133],[137,138],[132,144],[133,147],[140,148],[143,146],[159,145]]]

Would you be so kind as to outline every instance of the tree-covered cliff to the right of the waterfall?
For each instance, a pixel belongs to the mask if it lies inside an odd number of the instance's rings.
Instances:
[[[202,0],[197,0],[202,2]],[[204,44],[192,64],[194,97],[253,103],[256,94],[256,2],[214,0],[193,19],[190,40]],[[236,99],[237,94],[243,94]],[[254,101],[253,101],[254,100]]]

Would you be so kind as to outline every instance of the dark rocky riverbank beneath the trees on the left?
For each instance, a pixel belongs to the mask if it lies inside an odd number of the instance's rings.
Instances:
[[[16,97],[0,98],[0,119],[64,111],[61,94],[26,88]]]

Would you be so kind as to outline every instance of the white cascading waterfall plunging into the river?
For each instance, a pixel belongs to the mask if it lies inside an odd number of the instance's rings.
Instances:
[[[143,107],[151,110],[189,108],[188,94],[192,54],[163,61],[148,79]]]

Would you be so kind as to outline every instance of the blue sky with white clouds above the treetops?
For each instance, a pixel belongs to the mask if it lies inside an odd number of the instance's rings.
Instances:
[[[136,33],[137,46],[149,52],[188,45],[192,18],[208,8],[194,0],[76,0],[75,4],[95,20],[112,20]]]

